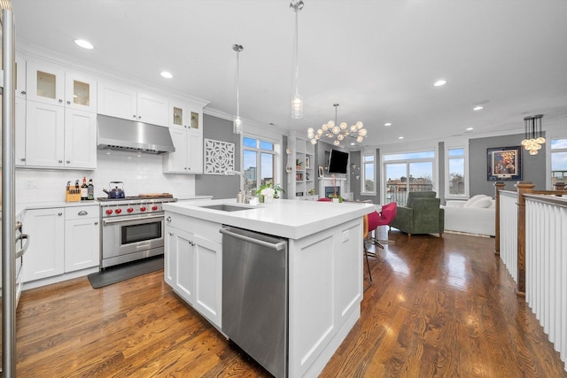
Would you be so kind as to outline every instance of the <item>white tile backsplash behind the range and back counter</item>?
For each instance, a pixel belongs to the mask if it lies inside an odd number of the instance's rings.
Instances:
[[[19,204],[65,201],[66,182],[93,180],[95,198],[106,197],[110,181],[124,181],[127,196],[140,193],[173,193],[175,197],[195,194],[192,174],[163,174],[161,155],[121,150],[97,150],[94,171],[63,169],[16,169],[16,202]]]

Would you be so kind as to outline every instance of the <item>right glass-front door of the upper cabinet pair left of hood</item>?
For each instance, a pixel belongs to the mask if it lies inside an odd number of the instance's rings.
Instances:
[[[66,73],[66,107],[97,112],[97,81],[80,73]]]

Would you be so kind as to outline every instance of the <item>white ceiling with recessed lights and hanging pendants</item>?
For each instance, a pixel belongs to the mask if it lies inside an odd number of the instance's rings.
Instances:
[[[290,0],[18,0],[17,46],[49,50],[144,85],[300,130],[361,120],[362,145],[439,140],[567,124],[567,2],[562,0],[304,0],[299,94],[291,120]],[[83,50],[83,38],[95,49]],[[167,70],[173,79],[159,73]],[[447,80],[442,87],[432,84]],[[483,104],[482,111],[472,111]],[[385,127],[384,123],[392,122]],[[471,131],[465,131],[473,127]]]

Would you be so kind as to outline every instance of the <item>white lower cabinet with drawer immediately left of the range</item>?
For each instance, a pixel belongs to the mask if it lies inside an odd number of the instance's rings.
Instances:
[[[100,263],[99,209],[97,205],[65,209],[65,273]]]

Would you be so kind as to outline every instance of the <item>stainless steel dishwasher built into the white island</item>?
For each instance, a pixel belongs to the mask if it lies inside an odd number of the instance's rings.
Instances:
[[[276,377],[287,376],[287,239],[223,227],[222,331]]]

